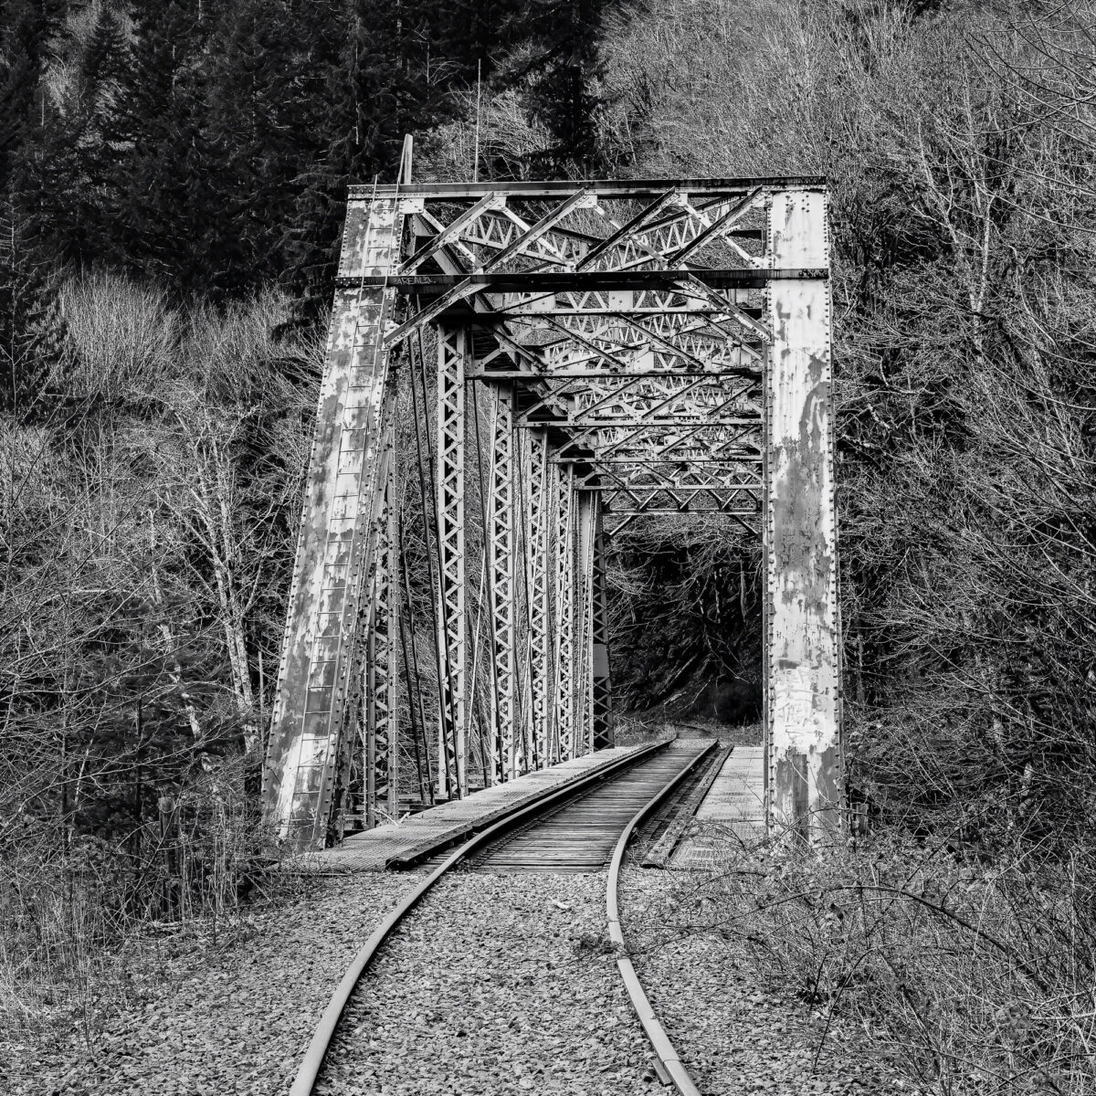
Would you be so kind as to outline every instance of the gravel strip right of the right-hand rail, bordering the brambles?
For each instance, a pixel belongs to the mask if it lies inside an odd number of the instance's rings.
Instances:
[[[848,1024],[826,1025],[755,972],[749,944],[677,932],[674,874],[626,868],[620,876],[625,944],[655,1015],[706,1096],[876,1096],[901,1082]],[[821,1048],[821,1049],[820,1049]]]

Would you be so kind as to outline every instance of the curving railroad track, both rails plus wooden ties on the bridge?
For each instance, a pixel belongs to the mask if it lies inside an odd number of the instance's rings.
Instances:
[[[675,798],[680,800],[685,795],[683,789],[699,779],[706,764],[713,760],[716,747],[715,742],[695,747],[674,743],[646,747],[586,779],[548,792],[538,801],[515,810],[455,852],[421,861],[426,869],[425,876],[369,937],[332,994],[290,1096],[312,1096],[329,1091],[318,1082],[334,1065],[329,1061],[326,1066],[324,1061],[329,1051],[334,1053],[332,1041],[340,1021],[344,1016],[362,1014],[361,1004],[354,1004],[362,975],[397,926],[444,876],[457,869],[503,876],[520,872],[571,875],[600,871],[606,866],[609,870],[603,923],[607,922],[617,967],[654,1051],[655,1068],[662,1080],[672,1082],[683,1096],[699,1096],[627,958],[617,910],[617,886],[629,842],[644,822],[659,821],[660,811],[664,824],[670,813],[664,804],[673,803]],[[481,921],[490,921],[490,911],[483,910]],[[347,1026],[356,1023],[356,1019],[349,1020]],[[430,1046],[429,1040],[426,1046]],[[483,1092],[486,1096],[489,1089]]]

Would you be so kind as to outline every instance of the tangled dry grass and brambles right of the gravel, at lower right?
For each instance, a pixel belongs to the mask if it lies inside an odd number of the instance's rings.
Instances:
[[[860,1021],[916,1092],[1096,1092],[1092,859],[1037,874],[894,835],[727,847],[718,872],[677,880],[677,929],[744,937],[764,977]]]

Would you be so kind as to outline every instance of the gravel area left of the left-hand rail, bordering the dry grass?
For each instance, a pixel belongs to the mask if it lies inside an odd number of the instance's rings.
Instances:
[[[0,1092],[288,1092],[332,989],[414,882],[410,874],[313,878],[295,899],[252,907],[217,945],[182,934],[135,941],[119,960],[123,1000],[93,1005],[62,1036],[0,1034]]]

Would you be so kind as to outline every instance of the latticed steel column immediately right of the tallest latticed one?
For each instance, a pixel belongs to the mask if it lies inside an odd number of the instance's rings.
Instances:
[[[491,729],[495,783],[517,775],[517,690],[514,627],[514,386],[492,385],[491,498],[488,509],[491,628],[494,638],[494,710]]]

